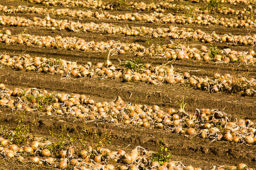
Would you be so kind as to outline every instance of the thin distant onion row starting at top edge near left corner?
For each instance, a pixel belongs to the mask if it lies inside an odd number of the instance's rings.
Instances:
[[[197,13],[223,13],[223,14],[232,14],[232,15],[246,15],[251,16],[256,13],[256,10],[252,8],[252,5],[248,5],[247,8],[243,8],[242,10],[233,9],[233,8],[213,8],[209,10],[208,8],[202,8],[198,6],[191,6],[188,4],[174,4],[174,0],[169,1],[161,1],[160,3],[151,3],[146,4],[144,2],[129,2],[122,6],[117,1],[116,2],[102,2],[102,1],[70,1],[70,0],[26,0],[37,4],[44,5],[52,5],[52,6],[82,6],[87,8],[102,8],[107,10],[116,10],[121,8],[129,8],[138,11],[156,11],[156,12],[164,12],[166,10],[176,10],[176,11],[195,11]]]

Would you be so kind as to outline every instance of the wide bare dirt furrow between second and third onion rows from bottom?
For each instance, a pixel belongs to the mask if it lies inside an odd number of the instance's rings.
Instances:
[[[183,96],[190,112],[196,108],[217,108],[239,118],[256,120],[256,98],[242,97],[225,93],[209,94],[206,91],[194,90],[191,87],[178,84],[159,86],[144,83],[122,83],[120,80],[65,78],[58,75],[37,72],[20,72],[11,68],[2,68],[0,81],[11,86],[36,87],[50,91],[87,94],[88,96],[104,98],[107,101],[121,96],[124,101],[159,105],[164,108],[178,109]],[[245,114],[246,113],[246,114]]]

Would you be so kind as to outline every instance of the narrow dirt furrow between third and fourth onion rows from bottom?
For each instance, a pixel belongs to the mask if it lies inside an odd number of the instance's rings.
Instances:
[[[0,43],[0,52],[8,53],[9,55],[20,55],[21,53],[29,54],[33,57],[53,57],[64,60],[78,62],[78,64],[85,64],[86,62],[105,62],[107,60],[106,52],[81,52],[78,50],[58,50],[46,47],[26,47],[26,45],[6,45]],[[133,61],[137,57],[128,52],[124,55],[113,55],[110,60],[113,64],[118,64],[119,61]],[[143,57],[142,63],[151,63],[152,65],[161,65],[169,62],[164,57]],[[256,78],[256,68],[251,64],[235,64],[235,63],[218,63],[218,62],[198,62],[195,60],[176,60],[171,62],[177,72],[190,72],[198,77],[213,77],[213,74],[219,72],[220,74],[231,74],[234,76],[252,77]]]

